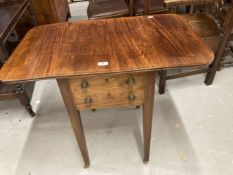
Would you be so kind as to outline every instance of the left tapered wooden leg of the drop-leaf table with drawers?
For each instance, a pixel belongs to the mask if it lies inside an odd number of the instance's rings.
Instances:
[[[70,117],[71,125],[73,127],[76,139],[78,141],[80,151],[82,153],[85,168],[90,166],[90,159],[88,155],[86,139],[83,131],[82,121],[80,112],[77,111],[76,106],[73,101],[73,95],[70,90],[68,79],[57,79],[67,112]]]

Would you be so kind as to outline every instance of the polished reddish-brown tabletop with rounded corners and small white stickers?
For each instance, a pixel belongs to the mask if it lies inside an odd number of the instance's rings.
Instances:
[[[67,22],[27,33],[1,69],[0,80],[152,71],[207,65],[213,58],[175,14]]]

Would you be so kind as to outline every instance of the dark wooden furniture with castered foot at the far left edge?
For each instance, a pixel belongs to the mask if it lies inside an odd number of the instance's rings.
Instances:
[[[7,39],[23,15],[27,11],[31,13],[29,8],[30,4],[28,0],[0,2],[0,50],[2,50],[1,54],[3,55],[0,63],[0,69],[2,64],[4,64],[5,60],[10,55],[5,47]],[[0,100],[17,98],[21,104],[25,106],[29,114],[34,116],[35,113],[30,105],[33,89],[34,82],[25,84],[17,83],[11,85],[5,85],[0,82]]]

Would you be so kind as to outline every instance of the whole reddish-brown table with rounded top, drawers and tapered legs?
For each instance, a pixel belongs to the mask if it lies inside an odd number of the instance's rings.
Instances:
[[[31,30],[1,69],[0,80],[57,79],[86,167],[79,110],[143,105],[147,162],[156,71],[208,65],[213,58],[179,15],[87,20]]]

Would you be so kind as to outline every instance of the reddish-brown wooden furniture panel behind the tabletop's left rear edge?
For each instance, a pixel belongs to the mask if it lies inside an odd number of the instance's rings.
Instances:
[[[39,25],[65,22],[70,17],[67,0],[31,0]]]

